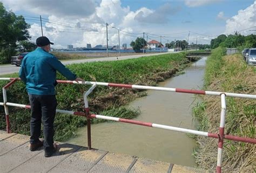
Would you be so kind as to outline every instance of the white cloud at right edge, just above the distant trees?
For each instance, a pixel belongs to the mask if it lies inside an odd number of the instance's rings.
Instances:
[[[238,14],[226,21],[225,33],[233,33],[234,31],[245,30],[256,26],[256,1],[244,10],[239,10]],[[255,30],[254,29],[251,30]],[[255,32],[255,31],[254,31]],[[241,31],[241,34],[251,34],[253,31]]]

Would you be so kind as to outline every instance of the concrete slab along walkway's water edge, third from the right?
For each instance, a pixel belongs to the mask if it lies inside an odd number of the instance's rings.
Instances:
[[[89,172],[126,172],[133,160],[129,155],[108,153]]]

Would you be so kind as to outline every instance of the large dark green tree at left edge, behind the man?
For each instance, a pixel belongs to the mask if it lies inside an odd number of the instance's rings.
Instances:
[[[17,44],[30,38],[29,27],[23,16],[6,11],[0,2],[0,64],[10,63],[10,57],[16,53]]]

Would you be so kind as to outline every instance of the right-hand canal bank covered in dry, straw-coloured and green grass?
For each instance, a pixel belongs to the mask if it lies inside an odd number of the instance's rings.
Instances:
[[[207,91],[223,91],[256,94],[256,72],[247,66],[240,54],[224,56],[224,49],[212,52],[206,62],[205,87]],[[227,114],[225,134],[255,138],[256,101],[252,99],[226,98]],[[217,133],[220,122],[220,97],[204,96],[194,108],[199,129]],[[196,162],[200,168],[215,170],[218,140],[197,137]],[[223,170],[253,172],[256,169],[254,144],[225,140]]]

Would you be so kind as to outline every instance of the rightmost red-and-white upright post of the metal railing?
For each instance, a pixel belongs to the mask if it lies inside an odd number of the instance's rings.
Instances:
[[[226,116],[226,100],[225,94],[221,96],[221,114],[220,114],[220,127],[219,127],[219,142],[218,142],[218,156],[217,156],[217,167],[216,172],[221,172],[221,163],[223,159],[223,142],[224,142],[224,128],[225,128],[225,116]]]

